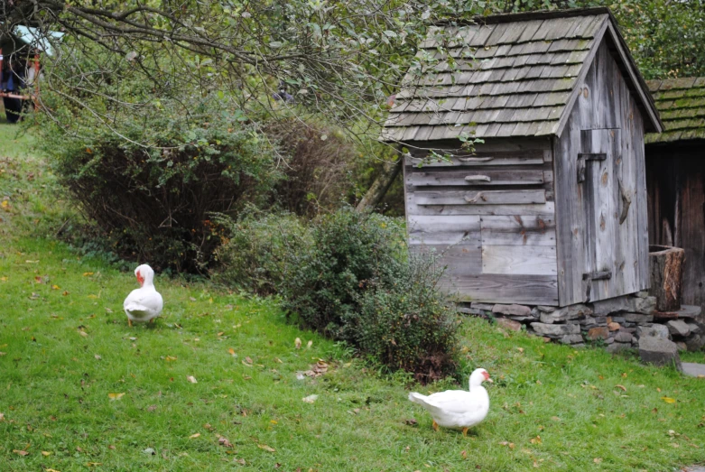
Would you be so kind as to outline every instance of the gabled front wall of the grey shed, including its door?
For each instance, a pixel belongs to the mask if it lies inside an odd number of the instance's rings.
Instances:
[[[561,305],[648,286],[644,125],[609,41],[598,47],[554,145]],[[579,162],[579,153],[605,153],[606,161]],[[610,279],[590,277],[603,269]]]

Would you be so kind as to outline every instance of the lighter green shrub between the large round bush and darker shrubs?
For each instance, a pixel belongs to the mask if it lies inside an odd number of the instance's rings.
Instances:
[[[247,213],[233,221],[216,218],[229,237],[217,250],[215,281],[258,295],[272,295],[282,285],[289,255],[311,245],[309,227],[291,213]]]

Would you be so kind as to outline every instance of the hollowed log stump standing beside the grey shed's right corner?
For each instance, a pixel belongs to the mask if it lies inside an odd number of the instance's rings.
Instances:
[[[649,246],[649,272],[651,273],[649,294],[656,297],[656,310],[681,309],[683,263],[685,263],[685,251],[680,247]]]

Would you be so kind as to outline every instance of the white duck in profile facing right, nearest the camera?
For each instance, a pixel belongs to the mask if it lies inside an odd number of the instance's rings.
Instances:
[[[462,430],[468,435],[468,428],[483,421],[489,412],[489,395],[482,383],[492,382],[487,370],[475,369],[470,375],[470,391],[446,390],[426,396],[421,393],[409,393],[409,400],[419,403],[431,413],[433,429],[439,426]]]

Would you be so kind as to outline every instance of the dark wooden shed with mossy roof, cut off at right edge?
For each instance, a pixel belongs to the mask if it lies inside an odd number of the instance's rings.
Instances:
[[[705,308],[705,77],[648,86],[665,127],[646,134],[649,241],[685,250],[682,302]]]

